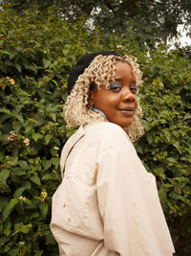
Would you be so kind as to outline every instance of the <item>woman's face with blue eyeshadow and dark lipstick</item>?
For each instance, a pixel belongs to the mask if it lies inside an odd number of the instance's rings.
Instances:
[[[111,81],[108,88],[104,84],[99,89],[95,86],[89,104],[101,110],[109,122],[121,128],[130,126],[138,107],[137,85],[132,67],[118,60],[114,81]]]

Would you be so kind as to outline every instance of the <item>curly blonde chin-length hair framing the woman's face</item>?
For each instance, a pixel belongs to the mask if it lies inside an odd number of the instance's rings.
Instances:
[[[90,86],[91,84],[96,84],[96,86],[100,88],[102,84],[105,84],[106,88],[108,88],[111,80],[115,76],[117,61],[125,61],[130,64],[137,86],[141,84],[142,74],[138,68],[137,58],[133,56],[117,57],[114,55],[96,56],[91,64],[84,70],[83,74],[75,81],[74,88],[64,105],[64,117],[67,128],[77,128],[80,125],[85,126],[105,122],[104,117],[93,111],[89,106]],[[138,99],[138,108],[132,124],[123,128],[132,142],[137,141],[144,133],[140,123],[141,118],[142,111]]]

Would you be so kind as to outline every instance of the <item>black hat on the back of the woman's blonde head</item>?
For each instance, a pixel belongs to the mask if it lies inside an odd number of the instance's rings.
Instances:
[[[73,69],[70,72],[69,75],[69,80],[68,80],[68,93],[70,94],[75,81],[77,81],[79,75],[84,73],[84,70],[90,65],[90,63],[93,61],[96,56],[102,55],[102,56],[110,56],[114,55],[117,57],[120,57],[117,52],[115,51],[99,51],[97,53],[92,53],[92,54],[86,54],[82,58],[80,58],[76,65],[73,67]]]

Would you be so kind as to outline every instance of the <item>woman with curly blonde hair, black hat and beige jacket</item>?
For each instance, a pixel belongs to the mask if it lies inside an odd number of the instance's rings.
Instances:
[[[101,51],[72,70],[64,107],[78,128],[61,153],[51,229],[60,255],[171,256],[155,177],[132,144],[143,134],[136,59]]]

